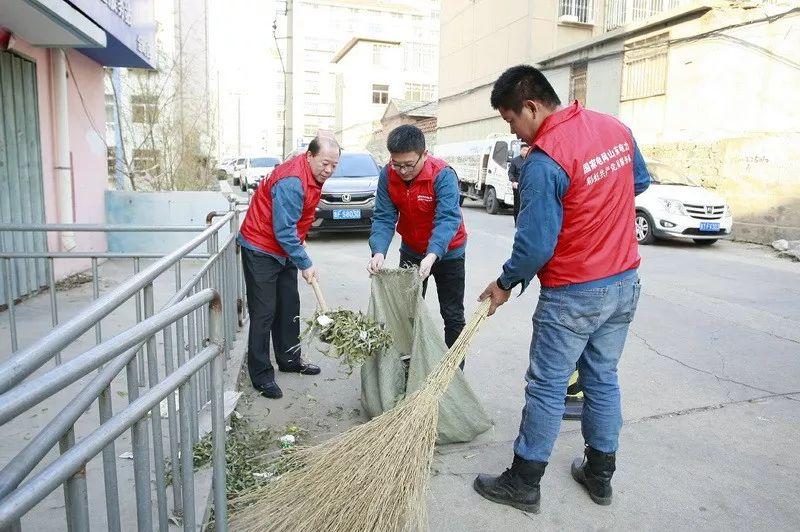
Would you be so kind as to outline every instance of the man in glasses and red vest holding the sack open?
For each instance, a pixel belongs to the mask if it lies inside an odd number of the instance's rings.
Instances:
[[[425,279],[436,280],[439,308],[444,320],[444,341],[452,346],[464,328],[464,251],[467,230],[458,204],[458,178],[446,162],[428,155],[425,135],[411,125],[389,133],[386,147],[392,160],[381,171],[375,197],[375,214],[367,269],[377,273],[395,229],[400,244],[400,265],[419,266]]]

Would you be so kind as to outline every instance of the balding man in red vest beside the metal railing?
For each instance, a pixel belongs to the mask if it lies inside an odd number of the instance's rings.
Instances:
[[[307,152],[277,166],[256,189],[239,231],[250,313],[247,369],[253,387],[266,397],[283,397],[269,360],[270,335],[280,371],[320,372],[293,350],[300,341],[300,323],[295,319],[300,315],[297,270],[308,283],[317,276],[303,243],[314,222],[322,184],[336,168],[340,153],[333,138],[317,137]]]

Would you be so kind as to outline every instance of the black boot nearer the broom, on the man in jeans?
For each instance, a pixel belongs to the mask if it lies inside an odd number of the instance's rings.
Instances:
[[[478,475],[472,487],[482,497],[498,504],[513,506],[523,512],[539,513],[539,481],[547,462],[514,456],[509,469],[498,477]]]

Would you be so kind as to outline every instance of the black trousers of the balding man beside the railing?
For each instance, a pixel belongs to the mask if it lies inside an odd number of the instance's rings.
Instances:
[[[292,350],[300,341],[297,267],[288,259],[284,265],[266,253],[242,248],[242,269],[250,313],[247,369],[253,386],[260,387],[275,381],[270,336],[278,368],[297,369],[302,363],[300,351]]]

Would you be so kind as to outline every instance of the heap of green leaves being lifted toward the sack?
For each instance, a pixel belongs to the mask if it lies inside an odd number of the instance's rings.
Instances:
[[[338,309],[323,313],[317,310],[304,321],[306,328],[300,334],[300,344],[310,344],[313,338],[329,344],[328,349],[320,352],[340,359],[348,373],[392,343],[386,326],[361,311]]]

